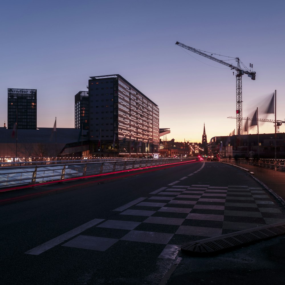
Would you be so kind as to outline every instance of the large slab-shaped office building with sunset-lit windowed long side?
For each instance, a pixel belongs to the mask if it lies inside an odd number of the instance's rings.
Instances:
[[[92,153],[144,156],[159,152],[159,109],[119,74],[89,79]]]

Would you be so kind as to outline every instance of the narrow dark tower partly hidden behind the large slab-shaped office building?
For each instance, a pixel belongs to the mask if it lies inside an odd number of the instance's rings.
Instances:
[[[75,129],[88,130],[89,127],[89,100],[87,91],[79,91],[75,95]]]

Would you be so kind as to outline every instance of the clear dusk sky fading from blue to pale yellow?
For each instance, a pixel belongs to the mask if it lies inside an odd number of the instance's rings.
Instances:
[[[37,126],[53,127],[56,117],[58,128],[74,128],[74,95],[87,90],[89,76],[120,74],[158,105],[167,140],[201,142],[204,123],[208,141],[229,135],[237,123],[227,118],[236,116],[233,70],[178,41],[234,65],[236,57],[252,63],[256,80],[242,78],[243,117],[276,90],[283,121],[284,11],[282,0],[5,1],[1,120],[8,88],[37,89]],[[259,123],[259,133],[274,133],[274,124]]]

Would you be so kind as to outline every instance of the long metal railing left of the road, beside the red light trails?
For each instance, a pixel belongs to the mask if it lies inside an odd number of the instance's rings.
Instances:
[[[45,182],[56,182],[67,179],[72,180],[73,178],[82,179],[111,172],[147,168],[188,160],[198,160],[198,158],[192,157],[116,161],[101,160],[99,162],[83,163],[78,161],[77,163],[1,167],[0,188],[15,188],[22,185],[35,186],[36,184],[42,184]]]

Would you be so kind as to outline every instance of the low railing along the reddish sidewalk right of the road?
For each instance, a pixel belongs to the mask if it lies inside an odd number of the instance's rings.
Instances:
[[[270,168],[274,170],[280,170],[285,171],[285,160],[284,159],[269,159],[269,158],[238,158],[235,160],[234,158],[231,159],[221,159],[221,162],[228,162],[231,164],[247,164],[247,165],[253,165],[263,168]]]

